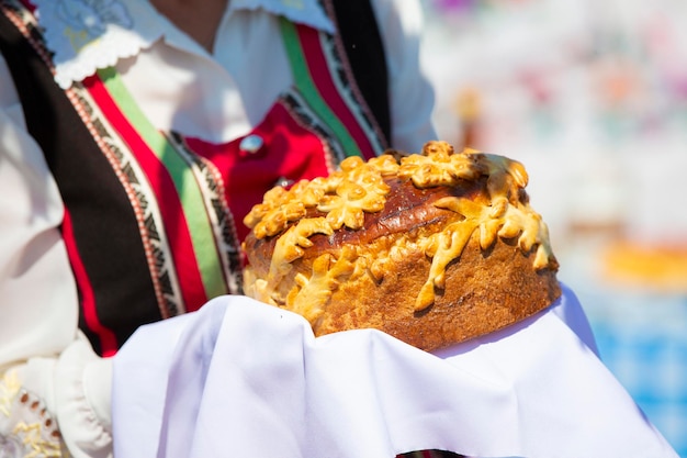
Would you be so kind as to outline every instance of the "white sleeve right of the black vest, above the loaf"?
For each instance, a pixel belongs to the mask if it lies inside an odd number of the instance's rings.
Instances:
[[[388,69],[391,146],[419,153],[437,139],[431,115],[435,93],[420,66],[423,8],[416,0],[374,0]]]

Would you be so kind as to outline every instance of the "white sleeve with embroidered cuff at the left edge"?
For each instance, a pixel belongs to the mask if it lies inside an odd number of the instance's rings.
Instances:
[[[105,457],[111,361],[78,332],[61,199],[11,81],[0,56],[0,455]]]

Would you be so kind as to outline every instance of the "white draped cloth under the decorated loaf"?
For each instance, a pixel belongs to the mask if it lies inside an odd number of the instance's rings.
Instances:
[[[115,455],[677,458],[589,337],[567,288],[436,356],[373,329],[315,338],[299,315],[219,298],[142,327],[115,358]]]

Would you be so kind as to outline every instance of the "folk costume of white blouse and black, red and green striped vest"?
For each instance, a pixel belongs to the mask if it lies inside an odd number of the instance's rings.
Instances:
[[[0,2],[3,182],[36,197],[3,212],[2,238],[25,242],[0,292],[27,305],[16,337],[2,326],[0,437],[57,456],[59,422],[74,455],[106,450],[111,367],[90,347],[240,293],[241,220],[273,185],[433,138],[418,7],[396,9],[233,0],[211,55],[147,1]]]

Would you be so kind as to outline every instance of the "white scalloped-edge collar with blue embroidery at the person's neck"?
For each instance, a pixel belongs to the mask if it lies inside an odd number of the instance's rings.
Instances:
[[[54,52],[55,81],[64,89],[174,33],[148,0],[33,0],[33,3],[47,47]],[[326,32],[334,31],[316,0],[232,0],[229,3],[229,11],[262,9]]]

